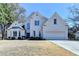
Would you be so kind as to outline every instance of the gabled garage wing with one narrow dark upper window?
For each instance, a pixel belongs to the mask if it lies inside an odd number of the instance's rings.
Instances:
[[[68,25],[57,13],[44,24],[43,38],[68,39]]]

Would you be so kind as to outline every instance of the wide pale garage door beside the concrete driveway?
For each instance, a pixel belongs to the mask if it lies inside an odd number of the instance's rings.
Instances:
[[[44,33],[46,39],[65,39],[64,31],[46,31]]]

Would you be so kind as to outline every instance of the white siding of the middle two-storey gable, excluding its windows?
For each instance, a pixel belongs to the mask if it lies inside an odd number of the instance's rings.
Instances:
[[[35,12],[30,20],[30,37],[34,37],[33,31],[35,31],[35,37],[39,37],[39,32],[41,32],[41,36],[43,36],[42,27],[43,23],[47,20],[45,17],[43,17],[38,12]],[[35,20],[39,21],[39,25],[35,26]]]

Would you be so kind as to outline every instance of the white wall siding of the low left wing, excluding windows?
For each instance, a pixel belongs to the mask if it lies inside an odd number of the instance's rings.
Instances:
[[[12,28],[12,27],[19,27],[19,28]],[[13,31],[17,31],[16,38],[19,37],[19,31],[20,31],[20,37],[25,36],[25,30],[19,25],[17,22],[13,23],[8,29],[7,29],[7,38],[13,37]]]

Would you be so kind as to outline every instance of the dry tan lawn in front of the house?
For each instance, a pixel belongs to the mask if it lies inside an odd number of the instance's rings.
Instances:
[[[4,56],[74,56],[54,43],[48,41],[1,40],[0,55]]]

